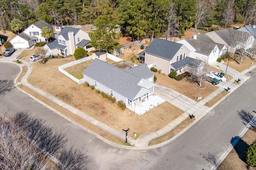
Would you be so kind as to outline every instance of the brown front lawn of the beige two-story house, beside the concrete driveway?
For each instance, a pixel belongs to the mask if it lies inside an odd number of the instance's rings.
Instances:
[[[205,89],[199,89],[196,87],[196,83],[189,82],[188,80],[177,81],[169,78],[167,75],[162,73],[154,73],[157,77],[157,82],[167,86],[175,91],[180,92],[181,94],[195,100],[196,97],[202,96],[206,98],[218,87],[213,86],[211,83],[205,82]]]

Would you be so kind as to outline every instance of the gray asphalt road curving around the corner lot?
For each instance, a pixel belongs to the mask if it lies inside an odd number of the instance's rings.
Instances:
[[[18,72],[18,66],[0,63],[0,79],[14,79]],[[151,150],[126,150],[108,145],[18,89],[0,96],[0,109],[8,108],[10,116],[28,110],[31,115],[42,118],[55,129],[68,132],[70,145],[82,149],[88,156],[89,169],[201,170],[210,168],[202,158],[204,153],[212,152],[221,156],[229,147],[230,139],[244,129],[236,113],[241,109],[250,112],[256,109],[255,84],[254,76],[179,138]]]

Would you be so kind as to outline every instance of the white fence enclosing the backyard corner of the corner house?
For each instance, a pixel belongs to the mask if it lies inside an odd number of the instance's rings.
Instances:
[[[74,62],[70,62],[70,63],[67,63],[67,64],[63,64],[61,66],[58,67],[59,71],[65,75],[67,75],[67,77],[69,77],[70,79],[74,80],[75,82],[77,82],[78,84],[81,84],[84,82],[84,79],[77,79],[75,78],[73,75],[69,74],[68,72],[66,72],[65,70],[63,69],[66,69],[67,67],[70,67],[70,66],[73,66],[73,65],[76,65],[76,64],[79,64],[79,63],[82,63],[82,62],[86,62],[88,60],[91,60],[92,59],[92,56],[88,56],[88,57],[85,57],[85,58],[81,58],[79,60],[76,60]]]

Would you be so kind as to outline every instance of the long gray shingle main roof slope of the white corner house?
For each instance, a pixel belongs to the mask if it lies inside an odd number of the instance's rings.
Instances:
[[[139,93],[141,86],[140,77],[108,64],[97,58],[84,70],[84,75],[104,84],[130,100]]]

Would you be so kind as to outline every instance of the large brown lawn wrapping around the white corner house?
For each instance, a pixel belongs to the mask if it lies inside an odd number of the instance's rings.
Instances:
[[[142,116],[132,113],[129,109],[122,111],[116,104],[58,71],[59,65],[71,61],[74,61],[73,57],[52,59],[46,64],[33,63],[33,73],[28,81],[116,130],[130,128],[131,137],[134,132],[144,134],[159,130],[183,113],[167,102]]]

